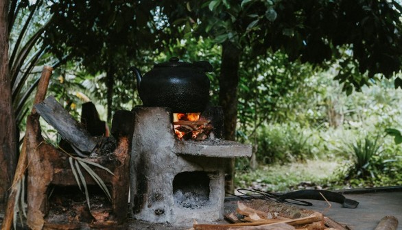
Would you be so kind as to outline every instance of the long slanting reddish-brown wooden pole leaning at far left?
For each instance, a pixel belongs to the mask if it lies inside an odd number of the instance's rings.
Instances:
[[[35,94],[34,104],[43,101],[46,96],[47,87],[49,86],[49,80],[51,77],[51,73],[53,72],[53,68],[51,66],[43,66],[42,75],[40,76],[38,90]],[[31,114],[36,114],[36,110],[33,107]],[[25,169],[27,168],[27,152],[26,152],[26,143],[27,138],[23,140],[23,146],[21,147],[21,153],[19,155],[18,164],[16,165],[16,170],[14,173],[14,179],[12,181],[12,187],[10,188],[10,195],[8,196],[7,207],[4,212],[4,220],[3,225],[1,226],[1,230],[9,230],[12,227],[12,220],[14,217],[14,205],[15,205],[15,196],[17,192],[16,184],[21,181],[23,175],[25,174]]]

